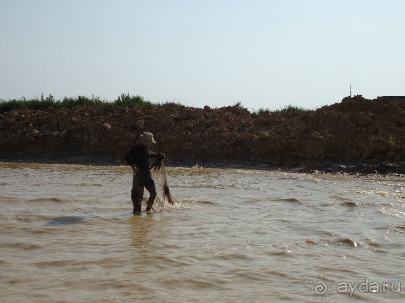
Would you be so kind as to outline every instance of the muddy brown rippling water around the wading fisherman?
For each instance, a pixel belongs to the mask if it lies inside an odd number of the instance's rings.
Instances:
[[[316,276],[325,301],[405,299],[336,288],[397,289],[403,179],[166,172],[179,203],[133,215],[128,167],[0,163],[2,301],[313,302]]]

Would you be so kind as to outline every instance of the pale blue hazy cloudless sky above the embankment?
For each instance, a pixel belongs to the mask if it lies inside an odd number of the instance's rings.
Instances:
[[[405,95],[403,0],[0,0],[0,99],[318,108]]]

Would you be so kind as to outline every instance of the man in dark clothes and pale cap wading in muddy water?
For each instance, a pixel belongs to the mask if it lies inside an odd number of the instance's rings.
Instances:
[[[144,187],[149,191],[146,211],[151,210],[156,198],[155,182],[149,169],[149,158],[165,158],[162,153],[151,154],[150,144],[156,143],[151,133],[145,132],[139,136],[139,143],[132,146],[125,156],[125,161],[133,169],[133,186],[131,199],[133,203],[133,212],[141,212],[141,202],[144,197]]]

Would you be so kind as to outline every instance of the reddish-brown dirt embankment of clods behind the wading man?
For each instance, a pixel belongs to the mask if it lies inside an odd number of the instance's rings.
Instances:
[[[0,114],[0,158],[109,158],[122,163],[144,131],[170,163],[312,172],[405,173],[405,101],[346,97],[299,115],[236,106],[113,106]]]

